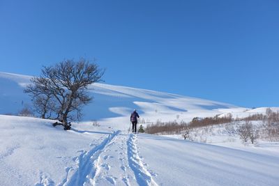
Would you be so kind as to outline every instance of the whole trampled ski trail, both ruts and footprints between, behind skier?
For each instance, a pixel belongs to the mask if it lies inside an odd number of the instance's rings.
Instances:
[[[137,135],[116,131],[89,151],[73,157],[77,168],[67,167],[60,186],[72,185],[158,185],[137,151]],[[40,184],[45,183],[41,179]]]

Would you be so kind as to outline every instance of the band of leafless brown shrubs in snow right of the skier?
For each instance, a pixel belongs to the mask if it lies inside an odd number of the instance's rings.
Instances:
[[[239,122],[234,122],[239,121]],[[239,125],[239,123],[245,124]],[[264,125],[256,126],[252,125],[251,121],[263,121]],[[142,120],[142,123],[147,124],[147,120]],[[219,129],[218,134],[224,133],[230,136],[239,134],[243,143],[251,141],[255,144],[257,139],[268,139],[269,141],[279,140],[279,112],[273,112],[271,109],[267,109],[266,115],[253,114],[245,118],[232,118],[232,114],[220,117],[216,115],[214,117],[199,118],[195,117],[190,123],[177,121],[162,122],[158,120],[156,123],[148,123],[146,126],[146,133],[149,134],[181,134],[184,139],[190,139],[193,141],[206,141],[200,136],[211,133],[213,131],[213,125],[225,124],[225,130]],[[216,130],[215,130],[216,131]]]

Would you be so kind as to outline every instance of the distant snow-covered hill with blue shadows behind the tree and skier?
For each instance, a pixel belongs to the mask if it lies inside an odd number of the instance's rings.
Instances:
[[[16,114],[24,105],[31,106],[29,96],[23,93],[29,79],[31,76],[0,72],[0,114]],[[140,118],[146,123],[158,120],[188,122],[194,117],[227,113],[249,116],[265,111],[264,108],[253,111],[223,102],[109,84],[92,84],[89,91],[94,99],[84,107],[83,121],[97,120],[120,130],[126,128],[133,109],[139,111]]]

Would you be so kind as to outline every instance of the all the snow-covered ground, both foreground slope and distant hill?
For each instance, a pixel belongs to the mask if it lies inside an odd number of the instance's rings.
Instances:
[[[0,114],[16,114],[30,104],[23,93],[30,78],[0,72]],[[243,117],[264,114],[266,108],[107,84],[93,84],[90,91],[95,99],[73,130],[52,127],[51,120],[0,115],[0,185],[279,183],[276,143],[243,146],[237,137],[218,132],[220,128],[213,129],[215,135],[199,134],[197,141],[210,144],[185,141],[181,135],[128,134],[134,108],[149,123],[228,113]],[[100,126],[93,125],[95,120]]]

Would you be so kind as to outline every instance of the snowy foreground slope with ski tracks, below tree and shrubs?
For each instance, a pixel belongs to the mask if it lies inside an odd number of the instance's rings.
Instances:
[[[278,185],[279,155],[0,115],[0,185]]]

